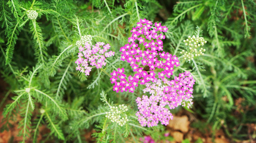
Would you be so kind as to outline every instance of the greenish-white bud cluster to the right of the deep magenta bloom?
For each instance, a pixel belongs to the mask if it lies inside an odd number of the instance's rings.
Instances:
[[[207,41],[205,41],[203,39],[203,37],[195,37],[195,35],[193,35],[192,37],[188,37],[188,39],[183,41],[185,43],[186,46],[189,46],[188,51],[182,50],[182,52],[180,52],[180,54],[184,54],[183,58],[185,60],[193,60],[194,56],[200,56],[203,55],[205,52],[204,48],[200,48],[200,46],[203,46],[205,43],[207,43]]]

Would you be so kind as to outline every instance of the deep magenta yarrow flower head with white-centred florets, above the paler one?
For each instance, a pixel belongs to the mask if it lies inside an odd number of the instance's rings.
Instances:
[[[146,72],[142,67],[149,67],[150,70],[162,69],[160,78],[170,78],[174,66],[180,65],[175,55],[160,52],[163,50],[162,39],[165,39],[161,32],[166,32],[168,28],[161,26],[161,23],[154,23],[154,26],[152,27],[151,21],[141,19],[131,31],[132,36],[128,38],[128,43],[120,48],[121,60],[130,63],[136,74],[127,79],[124,70],[122,73],[113,71],[110,80],[115,84],[114,91],[133,92],[139,82],[145,84],[154,81],[156,73]]]

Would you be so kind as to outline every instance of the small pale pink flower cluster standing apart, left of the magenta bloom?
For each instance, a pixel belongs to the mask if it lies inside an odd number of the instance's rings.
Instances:
[[[92,46],[88,43],[85,43],[84,46],[79,47],[78,59],[76,60],[76,70],[79,70],[85,75],[89,75],[92,67],[96,66],[96,68],[102,68],[102,66],[106,66],[105,59],[106,57],[114,56],[115,52],[107,50],[110,48],[109,44],[103,42],[97,42],[95,46]]]

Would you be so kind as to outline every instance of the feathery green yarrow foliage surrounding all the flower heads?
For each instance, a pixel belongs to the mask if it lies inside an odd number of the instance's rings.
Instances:
[[[0,106],[13,99],[4,108],[4,121],[20,114],[23,142],[37,142],[43,124],[51,130],[46,142],[84,142],[84,129],[95,129],[97,142],[163,136],[164,126],[141,127],[135,116],[143,85],[134,93],[116,93],[109,81],[114,69],[129,67],[120,60],[119,49],[139,19],[147,18],[168,27],[164,50],[180,57],[174,75],[188,70],[196,81],[190,111],[203,123],[192,125],[209,124],[213,135],[223,128],[233,141],[248,139],[245,125],[256,121],[255,6],[253,0],[1,0],[0,72],[10,86]],[[27,10],[38,17],[29,19]],[[206,52],[188,62],[180,52],[197,25],[207,40]],[[74,62],[76,41],[88,34],[94,44],[109,43],[115,56],[85,76]],[[10,93],[15,96],[8,97]],[[128,106],[125,126],[105,117],[109,104]],[[1,128],[8,129],[5,125]]]

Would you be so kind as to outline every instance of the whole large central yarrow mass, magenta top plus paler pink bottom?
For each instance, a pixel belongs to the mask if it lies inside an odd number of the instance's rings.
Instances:
[[[161,23],[154,23],[152,27],[151,21],[141,19],[131,30],[132,36],[128,38],[128,43],[120,48],[121,60],[130,63],[134,75],[125,75],[124,68],[111,73],[111,83],[115,84],[113,91],[134,92],[139,84],[146,86],[143,91],[149,93],[150,97],[143,95],[142,99],[136,99],[139,109],[136,116],[141,126],[156,126],[159,121],[167,125],[173,116],[166,105],[172,109],[192,104],[195,80],[190,72],[181,73],[171,81],[167,79],[173,74],[174,66],[180,65],[175,55],[161,52],[162,39],[165,39],[162,32],[167,30]]]

